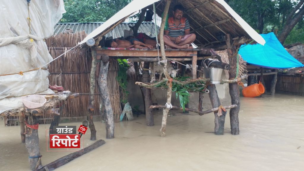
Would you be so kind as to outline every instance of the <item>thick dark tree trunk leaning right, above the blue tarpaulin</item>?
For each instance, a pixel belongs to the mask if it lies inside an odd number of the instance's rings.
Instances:
[[[301,1],[299,3],[303,4],[303,1]],[[299,21],[300,21],[300,19],[302,19],[303,15],[304,15],[304,7],[300,8],[299,11],[295,14],[294,17],[287,20],[285,26],[283,27],[283,30],[282,30],[281,34],[278,37],[278,40],[281,42],[281,44],[284,44],[288,34],[291,32],[293,27],[295,27],[295,25],[297,23],[299,23]]]

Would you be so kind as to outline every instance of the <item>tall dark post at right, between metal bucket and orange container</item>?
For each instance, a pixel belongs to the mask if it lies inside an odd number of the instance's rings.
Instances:
[[[234,79],[237,76],[237,48],[233,45],[233,40],[230,34],[227,34],[227,52],[230,64],[229,79]],[[230,109],[230,128],[231,134],[238,135],[240,134],[239,129],[239,110],[240,110],[240,94],[239,86],[237,83],[229,84],[229,94],[231,97],[231,104],[236,104],[237,107]]]

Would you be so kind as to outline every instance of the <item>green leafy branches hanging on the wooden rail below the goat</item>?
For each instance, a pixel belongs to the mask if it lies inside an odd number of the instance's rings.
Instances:
[[[174,80],[177,81],[188,81],[190,77],[175,77]],[[167,89],[168,86],[166,82],[161,85],[157,85],[156,87]],[[189,103],[189,92],[204,92],[205,82],[192,82],[185,85],[179,85],[175,82],[172,82],[172,91],[176,93],[176,99],[179,98],[179,102],[183,111],[185,111],[185,105]]]

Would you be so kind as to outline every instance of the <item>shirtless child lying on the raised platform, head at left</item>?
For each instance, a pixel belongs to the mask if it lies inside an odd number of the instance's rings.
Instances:
[[[132,41],[132,42],[131,42]],[[125,40],[123,37],[106,40],[105,47],[114,47],[114,48],[137,48],[137,49],[148,49],[152,48],[149,44],[144,44],[143,42],[138,41],[137,39]]]

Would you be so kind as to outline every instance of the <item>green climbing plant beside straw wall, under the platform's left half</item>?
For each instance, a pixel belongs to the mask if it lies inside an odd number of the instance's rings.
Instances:
[[[121,99],[120,102],[125,105],[128,102],[128,95],[129,92],[127,91],[128,86],[128,75],[127,75],[127,69],[130,67],[128,64],[128,61],[126,59],[117,59],[118,61],[118,74],[116,77],[116,80],[119,84],[119,89],[121,93]]]

